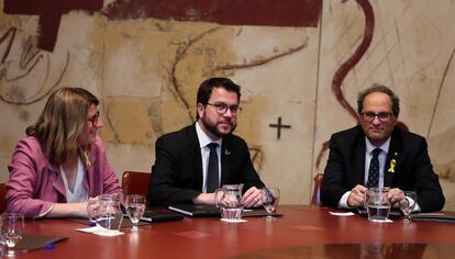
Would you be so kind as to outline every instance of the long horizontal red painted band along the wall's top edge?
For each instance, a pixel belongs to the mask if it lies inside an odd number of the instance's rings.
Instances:
[[[230,25],[318,26],[322,0],[119,0],[104,14],[111,20],[155,18]]]

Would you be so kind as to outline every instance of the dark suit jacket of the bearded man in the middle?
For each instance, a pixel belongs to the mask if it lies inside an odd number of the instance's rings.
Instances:
[[[202,192],[202,158],[196,125],[159,137],[155,144],[148,201],[152,205],[192,203]],[[245,140],[230,134],[221,146],[220,185],[244,183],[263,188],[249,158]]]

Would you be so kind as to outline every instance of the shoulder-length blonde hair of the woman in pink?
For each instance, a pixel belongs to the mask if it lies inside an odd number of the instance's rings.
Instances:
[[[52,162],[62,165],[68,155],[81,148],[79,136],[84,133],[92,104],[98,105],[99,100],[89,91],[60,88],[51,94],[40,119],[25,133],[44,144]]]

